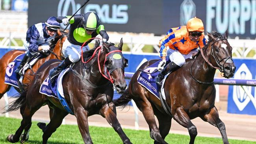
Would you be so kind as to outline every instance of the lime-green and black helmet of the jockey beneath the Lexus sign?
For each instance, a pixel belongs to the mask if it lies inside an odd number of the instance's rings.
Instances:
[[[83,15],[83,27],[86,31],[96,31],[99,26],[99,17],[96,13],[88,12]]]

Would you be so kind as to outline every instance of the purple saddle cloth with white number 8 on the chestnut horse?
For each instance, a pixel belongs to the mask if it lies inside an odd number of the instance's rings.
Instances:
[[[24,55],[25,54],[18,55],[17,57],[15,57],[15,59],[11,63],[8,64],[8,66],[6,68],[6,74],[5,74],[5,77],[4,77],[4,83],[19,88],[19,83],[18,83],[18,78],[17,78],[18,75],[14,71],[19,66],[19,64],[20,64],[21,60],[23,59]],[[41,55],[38,54],[35,57],[33,57],[30,61],[28,61],[28,63],[26,63],[23,66],[22,73],[24,74],[25,70],[27,70],[28,68],[33,66],[40,57],[41,57]],[[23,78],[23,76],[22,76],[22,78]]]

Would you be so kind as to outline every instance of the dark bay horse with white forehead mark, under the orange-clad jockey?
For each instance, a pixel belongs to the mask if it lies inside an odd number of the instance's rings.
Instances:
[[[219,119],[214,105],[216,90],[213,78],[216,68],[224,73],[225,78],[231,78],[236,67],[232,60],[232,47],[227,41],[228,31],[224,36],[217,32],[208,33],[208,37],[210,41],[200,50],[200,54],[195,59],[187,60],[185,65],[172,72],[166,79],[164,91],[171,116],[165,112],[156,96],[137,83],[140,71],[135,72],[128,90],[119,99],[113,100],[116,106],[123,107],[130,100],[135,101],[148,123],[150,137],[155,140],[155,144],[167,143],[164,138],[170,131],[172,118],[188,129],[189,144],[193,144],[197,128],[191,119],[196,117],[218,127],[223,143],[229,143],[224,123]],[[143,70],[156,61],[158,60],[147,61],[139,69]],[[154,115],[158,119],[159,128]]]

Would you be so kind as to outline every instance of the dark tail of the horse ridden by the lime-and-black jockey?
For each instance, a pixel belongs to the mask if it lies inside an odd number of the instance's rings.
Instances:
[[[17,98],[15,101],[11,102],[7,107],[7,109],[3,113],[8,113],[11,111],[16,111],[17,109],[20,109],[25,104],[26,101],[26,92],[21,92],[19,95],[19,98]]]

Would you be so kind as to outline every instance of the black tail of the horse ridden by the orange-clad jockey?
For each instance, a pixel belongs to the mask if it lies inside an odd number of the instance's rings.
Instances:
[[[113,103],[116,107],[121,106],[122,108],[126,107],[128,102],[132,100],[129,90],[126,89],[120,98],[113,100]]]

